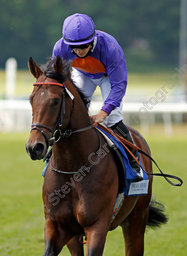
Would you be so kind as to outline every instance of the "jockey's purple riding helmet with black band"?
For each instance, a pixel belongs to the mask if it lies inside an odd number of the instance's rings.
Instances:
[[[64,20],[62,34],[65,44],[88,44],[95,37],[95,25],[87,15],[75,13]]]

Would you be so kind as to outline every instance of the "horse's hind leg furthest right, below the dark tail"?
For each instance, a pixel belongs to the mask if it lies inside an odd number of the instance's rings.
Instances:
[[[142,212],[137,205],[121,223],[125,240],[126,256],[144,255],[144,233],[149,214],[148,208]]]

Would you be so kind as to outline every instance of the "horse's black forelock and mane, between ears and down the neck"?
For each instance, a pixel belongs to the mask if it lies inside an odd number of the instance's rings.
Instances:
[[[62,65],[63,65],[63,73],[62,74],[58,74],[54,71],[53,68],[53,64],[55,62],[55,59],[50,59],[46,64],[44,64],[41,69],[44,72],[44,75],[55,79],[57,81],[59,81],[61,84],[64,83],[65,80],[70,80],[70,82],[73,84],[73,86],[75,87],[75,89],[78,91],[78,94],[80,95],[84,105],[86,106],[87,110],[88,110],[88,95],[85,95],[85,93],[75,84],[75,82],[71,79],[71,73],[70,73],[70,69],[71,69],[71,62],[72,61],[66,61],[62,59]]]

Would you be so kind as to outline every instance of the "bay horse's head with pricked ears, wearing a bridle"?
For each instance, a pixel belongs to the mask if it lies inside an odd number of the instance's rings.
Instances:
[[[29,58],[28,65],[30,72],[36,77],[36,83],[29,97],[33,124],[26,151],[32,160],[40,160],[46,155],[48,147],[54,143],[54,140],[51,140],[54,132],[63,131],[68,126],[73,111],[73,97],[65,96],[67,91],[63,84],[68,81],[67,73],[64,72],[59,56],[54,62],[49,62],[44,72],[32,57]]]

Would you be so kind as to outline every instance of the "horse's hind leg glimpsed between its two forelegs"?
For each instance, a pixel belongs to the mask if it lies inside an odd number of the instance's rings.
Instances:
[[[71,256],[84,256],[83,244],[79,241],[80,236],[74,236],[67,244]]]

